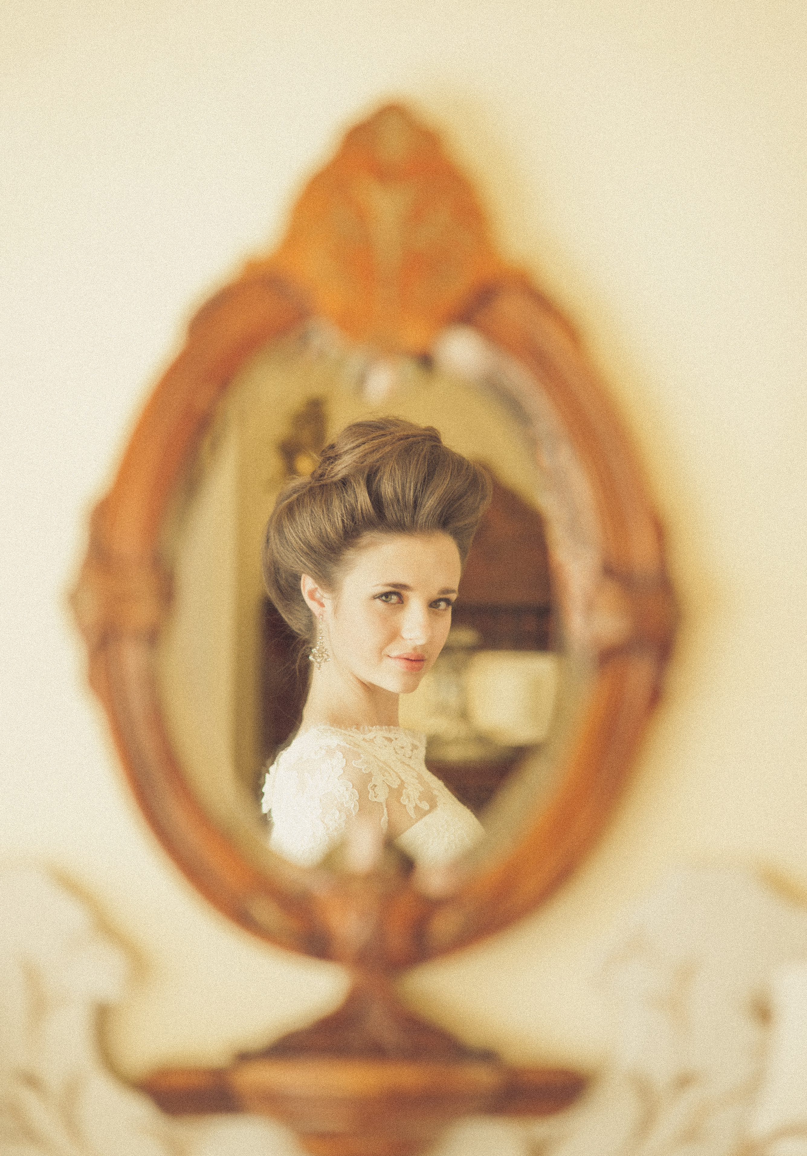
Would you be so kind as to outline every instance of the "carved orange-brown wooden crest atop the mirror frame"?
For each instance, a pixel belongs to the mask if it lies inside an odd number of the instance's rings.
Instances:
[[[274,271],[360,342],[421,354],[508,274],[469,181],[398,104],[346,135],[305,186]]]

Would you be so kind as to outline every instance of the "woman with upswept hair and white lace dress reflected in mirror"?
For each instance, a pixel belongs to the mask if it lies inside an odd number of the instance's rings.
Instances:
[[[284,858],[318,862],[355,820],[419,862],[482,833],[427,770],[424,738],[398,725],[398,699],[443,649],[489,498],[482,470],[436,429],[394,417],[348,425],[277,498],[266,584],[313,664],[299,729],[264,785]]]

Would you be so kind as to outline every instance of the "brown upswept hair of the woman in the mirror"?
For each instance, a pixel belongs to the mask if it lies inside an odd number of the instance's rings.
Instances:
[[[309,638],[313,620],[301,576],[335,590],[347,553],[368,533],[442,531],[465,564],[490,492],[487,473],[443,445],[434,425],[401,417],[354,422],[325,446],[310,477],[294,479],[277,496],[264,544],[269,598]]]

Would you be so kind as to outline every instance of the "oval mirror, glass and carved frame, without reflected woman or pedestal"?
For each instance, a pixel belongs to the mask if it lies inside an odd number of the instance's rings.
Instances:
[[[446,646],[401,725],[482,822],[457,860],[268,847],[260,790],[305,662],[267,600],[274,499],[345,425],[436,425],[493,501]],[[576,335],[493,250],[437,138],[391,105],[306,186],[286,240],[197,316],[92,519],[74,594],[133,788],[192,881],[286,947],[390,966],[505,926],[602,827],[674,625],[656,519]],[[372,943],[346,911],[375,896]]]

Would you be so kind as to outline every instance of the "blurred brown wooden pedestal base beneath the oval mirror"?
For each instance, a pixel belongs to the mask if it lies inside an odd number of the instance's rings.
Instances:
[[[227,1069],[161,1072],[142,1088],[173,1114],[250,1112],[312,1156],[417,1156],[462,1116],[546,1116],[583,1076],[511,1068],[413,1016],[383,977],[357,979],[333,1015]]]

